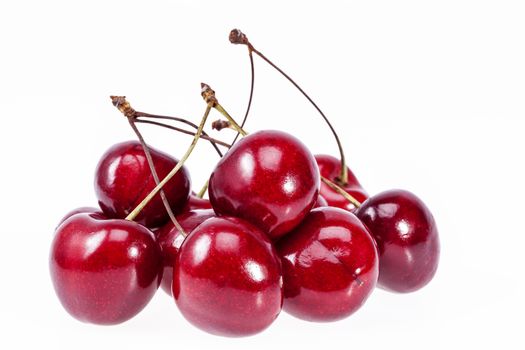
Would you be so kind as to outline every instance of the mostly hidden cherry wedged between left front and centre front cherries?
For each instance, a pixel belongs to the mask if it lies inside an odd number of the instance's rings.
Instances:
[[[177,221],[183,228],[184,232],[189,234],[193,229],[203,223],[206,219],[214,217],[215,213],[211,209],[192,210],[177,215]],[[157,242],[162,250],[162,261],[164,271],[162,273],[162,289],[171,295],[171,286],[173,283],[173,266],[177,259],[179,248],[184,241],[184,237],[171,221],[162,226],[156,233]]]

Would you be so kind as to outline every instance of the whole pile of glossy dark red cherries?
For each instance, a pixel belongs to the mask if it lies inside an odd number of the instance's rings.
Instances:
[[[144,147],[112,146],[95,174],[100,208],[75,209],[56,228],[51,278],[81,321],[129,320],[162,286],[198,328],[247,336],[281,309],[307,321],[343,319],[376,285],[412,292],[436,272],[438,231],[419,198],[369,197],[344,161],[314,156],[288,133],[261,130],[231,145],[209,178],[209,200],[191,192],[182,159]],[[155,194],[130,219],[177,166],[164,198]]]

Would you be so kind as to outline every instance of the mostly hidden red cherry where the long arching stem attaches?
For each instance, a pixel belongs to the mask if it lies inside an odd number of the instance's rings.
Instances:
[[[338,177],[341,175],[341,161],[335,157],[325,154],[317,154],[315,156],[315,160],[319,166],[319,172],[321,173],[321,176],[324,176],[328,180],[341,186],[341,184],[339,184],[337,181]],[[361,184],[359,181],[357,181],[357,178],[350,169],[348,169],[348,182],[346,185],[341,187],[359,202],[363,202],[368,198],[368,194],[363,189],[363,187],[361,187]],[[326,199],[326,202],[331,207],[342,208],[348,211],[355,211],[356,209],[352,203],[328,187],[328,185],[325,183],[321,183],[320,194],[324,197],[324,199]]]

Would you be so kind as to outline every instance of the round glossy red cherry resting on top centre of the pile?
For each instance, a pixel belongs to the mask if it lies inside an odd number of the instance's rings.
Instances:
[[[210,177],[210,202],[218,215],[245,219],[277,239],[313,208],[319,181],[315,159],[301,141],[263,130],[219,161]]]

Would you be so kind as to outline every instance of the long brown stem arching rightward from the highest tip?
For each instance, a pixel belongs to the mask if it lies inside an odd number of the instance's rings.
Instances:
[[[255,49],[255,47],[250,43],[250,40],[248,40],[248,37],[241,32],[239,29],[233,29],[230,32],[230,42],[232,44],[240,44],[240,45],[246,45],[248,46],[249,53],[251,55],[252,52],[254,52],[257,56],[262,58],[266,63],[268,63],[270,66],[272,66],[275,70],[277,70],[279,73],[281,73],[292,85],[294,85],[297,90],[299,90],[304,97],[314,106],[314,108],[319,112],[321,117],[323,117],[324,121],[332,131],[332,134],[334,135],[335,141],[337,142],[337,147],[339,148],[339,154],[341,157],[341,173],[339,177],[336,179],[337,182],[340,185],[346,185],[348,183],[348,169],[346,167],[346,158],[343,151],[343,145],[341,144],[341,140],[339,139],[339,136],[337,135],[337,132],[335,131],[334,127],[326,117],[326,115],[323,113],[321,108],[308,96],[308,94],[288,75],[286,74],[281,68],[276,66],[270,59],[268,59],[266,56],[262,54],[262,52]]]

